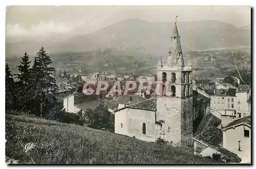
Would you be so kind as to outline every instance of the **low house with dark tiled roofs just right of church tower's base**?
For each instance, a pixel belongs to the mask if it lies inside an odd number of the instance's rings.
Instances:
[[[226,162],[239,163],[241,158],[223,146],[223,131],[210,126],[193,137],[194,140],[194,154],[200,156],[212,156],[217,153]]]

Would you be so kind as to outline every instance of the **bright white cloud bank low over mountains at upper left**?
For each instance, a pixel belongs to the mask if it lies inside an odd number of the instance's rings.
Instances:
[[[32,38],[32,37],[48,37],[52,34],[67,33],[72,30],[72,26],[63,25],[54,21],[40,21],[36,25],[32,25],[29,29],[25,29],[19,23],[6,24],[6,37],[7,38]]]

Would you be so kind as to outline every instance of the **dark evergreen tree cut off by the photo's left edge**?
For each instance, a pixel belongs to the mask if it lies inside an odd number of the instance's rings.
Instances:
[[[13,105],[15,102],[14,97],[14,80],[13,75],[10,71],[8,63],[5,64],[5,103],[6,112],[13,110]]]

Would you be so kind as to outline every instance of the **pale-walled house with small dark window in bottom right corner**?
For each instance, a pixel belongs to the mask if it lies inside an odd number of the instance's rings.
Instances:
[[[234,120],[222,130],[223,147],[236,153],[242,162],[251,162],[251,116]]]

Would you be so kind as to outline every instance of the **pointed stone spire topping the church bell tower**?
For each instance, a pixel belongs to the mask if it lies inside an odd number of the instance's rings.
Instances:
[[[176,16],[177,19],[178,16]],[[184,67],[184,59],[181,50],[180,44],[180,36],[177,28],[177,20],[175,20],[173,35],[170,37],[170,48],[169,48],[169,56],[167,59],[167,66],[181,66]]]

